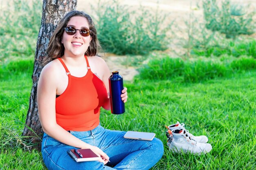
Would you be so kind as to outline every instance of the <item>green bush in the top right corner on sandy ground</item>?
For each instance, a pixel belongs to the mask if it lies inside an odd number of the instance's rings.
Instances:
[[[216,0],[204,0],[203,8],[207,29],[224,33],[226,38],[236,38],[240,34],[251,35],[254,33],[256,28],[253,21],[255,12],[245,14],[246,7],[242,5],[232,5],[229,0],[223,0],[220,8]]]

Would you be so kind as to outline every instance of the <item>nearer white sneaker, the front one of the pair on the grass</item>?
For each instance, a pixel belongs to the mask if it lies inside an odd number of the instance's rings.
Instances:
[[[188,132],[184,129],[172,130],[173,139],[167,142],[172,152],[191,152],[198,155],[206,154],[211,151],[211,144],[199,143],[189,136]]]

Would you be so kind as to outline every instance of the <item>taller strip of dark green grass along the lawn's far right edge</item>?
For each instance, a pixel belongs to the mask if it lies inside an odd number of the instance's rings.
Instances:
[[[162,59],[151,60],[148,65],[140,69],[137,78],[162,80],[181,77],[182,82],[201,82],[252,69],[256,69],[256,60],[253,58],[243,57],[222,61],[183,61],[180,58],[166,56]]]

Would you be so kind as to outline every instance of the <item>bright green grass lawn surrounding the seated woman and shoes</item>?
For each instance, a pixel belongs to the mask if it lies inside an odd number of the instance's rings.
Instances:
[[[20,73],[0,81],[0,170],[46,169],[40,152],[15,144],[27,115],[30,77]],[[126,113],[112,115],[102,109],[101,124],[112,130],[155,132],[165,152],[154,170],[255,170],[255,84],[256,71],[201,83],[124,82],[129,96]],[[212,151],[201,156],[168,151],[164,126],[176,121],[193,135],[206,135]]]

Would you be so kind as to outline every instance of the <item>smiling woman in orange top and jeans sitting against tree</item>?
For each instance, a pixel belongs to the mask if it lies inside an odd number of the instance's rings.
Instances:
[[[124,139],[125,132],[100,125],[100,108],[110,109],[110,71],[96,56],[99,47],[92,18],[82,11],[67,13],[49,41],[51,62],[40,74],[37,91],[45,132],[42,155],[49,170],[146,170],[163,155],[159,139]],[[126,90],[121,94],[124,102]],[[101,160],[77,163],[67,154],[73,148],[90,148]]]

